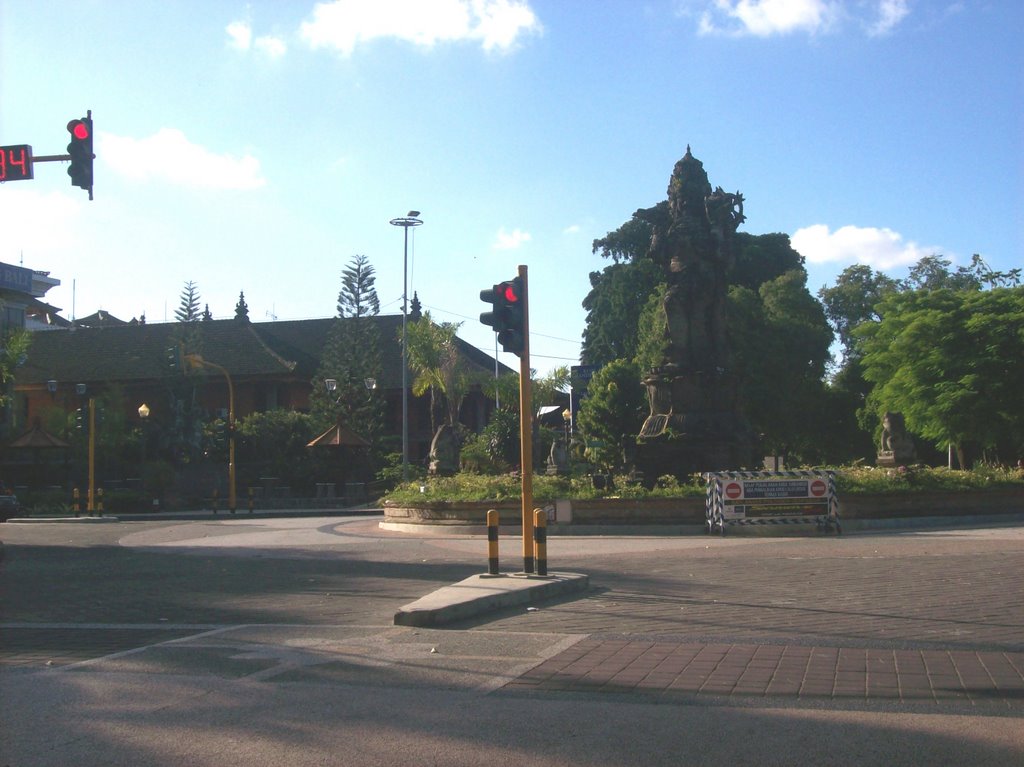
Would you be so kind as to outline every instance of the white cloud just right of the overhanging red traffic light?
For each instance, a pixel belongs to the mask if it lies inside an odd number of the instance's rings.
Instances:
[[[176,128],[161,128],[148,138],[99,133],[97,156],[123,176],[159,179],[180,186],[254,189],[266,184],[252,155],[217,155],[190,142]]]

